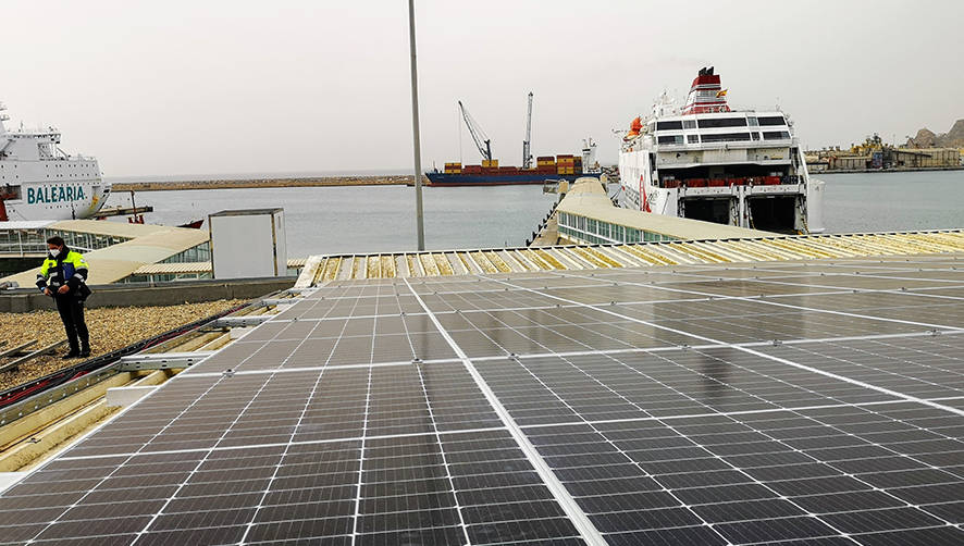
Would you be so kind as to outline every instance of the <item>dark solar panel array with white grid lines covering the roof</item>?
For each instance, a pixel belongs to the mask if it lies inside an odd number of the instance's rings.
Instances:
[[[964,544],[961,257],[334,282],[0,544]]]

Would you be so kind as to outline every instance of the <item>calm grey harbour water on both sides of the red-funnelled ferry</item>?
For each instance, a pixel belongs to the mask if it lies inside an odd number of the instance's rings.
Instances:
[[[827,233],[964,227],[964,171],[814,174]],[[534,186],[425,187],[429,249],[521,246],[558,197]],[[289,187],[143,191],[145,221],[177,225],[226,209],[284,209],[288,256],[413,250],[415,188]],[[131,204],[128,194],[109,204]],[[207,228],[207,225],[205,226]]]

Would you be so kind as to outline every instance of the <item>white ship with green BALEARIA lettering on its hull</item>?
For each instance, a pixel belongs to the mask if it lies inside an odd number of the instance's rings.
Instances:
[[[3,110],[0,103],[0,221],[96,214],[110,194],[97,160],[64,153],[53,127],[8,131]]]

